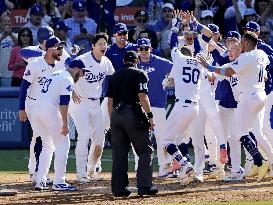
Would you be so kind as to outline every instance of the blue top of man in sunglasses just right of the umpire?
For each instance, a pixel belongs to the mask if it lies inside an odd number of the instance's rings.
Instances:
[[[140,62],[138,68],[147,72],[148,96],[152,107],[165,108],[167,101],[166,91],[163,89],[162,81],[171,72],[172,62],[151,54],[149,62]]]

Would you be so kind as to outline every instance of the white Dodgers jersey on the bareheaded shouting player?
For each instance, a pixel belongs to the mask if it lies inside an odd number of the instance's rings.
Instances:
[[[106,75],[112,75],[114,68],[111,61],[102,56],[101,61],[98,61],[89,51],[77,57],[85,64],[85,75],[80,77],[74,85],[74,91],[83,98],[98,99],[102,93],[102,83]]]

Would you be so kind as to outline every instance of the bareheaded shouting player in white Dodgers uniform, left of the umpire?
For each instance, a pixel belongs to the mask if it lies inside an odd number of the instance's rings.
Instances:
[[[98,33],[92,41],[91,52],[78,57],[86,65],[86,72],[74,86],[74,102],[70,103],[69,114],[78,131],[76,146],[77,179],[87,183],[102,180],[95,172],[96,164],[101,158],[104,134],[103,118],[100,106],[102,82],[107,75],[114,72],[111,61],[105,56],[108,36]],[[88,144],[91,147],[88,154]]]

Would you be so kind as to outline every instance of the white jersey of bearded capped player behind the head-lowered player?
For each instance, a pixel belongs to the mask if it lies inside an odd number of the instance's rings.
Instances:
[[[34,58],[27,66],[23,76],[23,79],[31,83],[27,90],[27,101],[35,104],[38,96],[40,95],[40,90],[46,81],[46,76],[57,70],[64,70],[61,63],[56,63],[55,66],[49,65],[44,56]]]

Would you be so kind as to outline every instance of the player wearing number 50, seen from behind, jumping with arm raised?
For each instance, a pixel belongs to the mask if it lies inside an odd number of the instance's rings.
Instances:
[[[167,119],[161,143],[174,160],[173,171],[180,169],[178,178],[183,184],[188,184],[193,179],[194,169],[191,163],[187,161],[187,158],[183,157],[174,141],[176,136],[188,129],[192,121],[197,117],[197,102],[204,70],[197,60],[191,57],[192,52],[188,48],[182,47],[182,51],[178,49],[178,31],[183,13],[175,11],[174,16],[170,38],[173,68],[169,78],[174,80],[178,102],[174,105]]]

